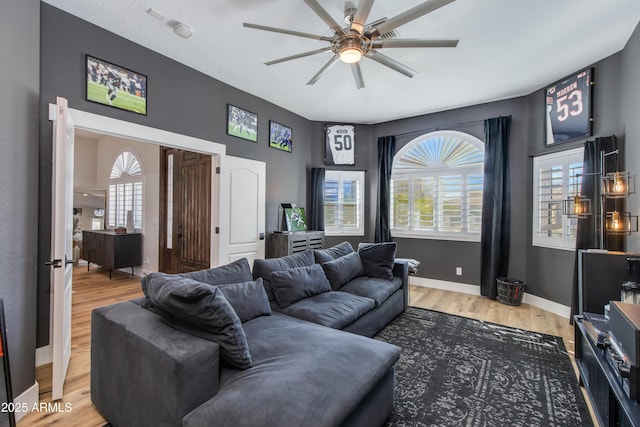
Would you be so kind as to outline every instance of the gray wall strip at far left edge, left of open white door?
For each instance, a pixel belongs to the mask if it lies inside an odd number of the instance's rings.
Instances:
[[[14,397],[35,384],[38,210],[38,0],[3,2],[0,14],[0,298]]]

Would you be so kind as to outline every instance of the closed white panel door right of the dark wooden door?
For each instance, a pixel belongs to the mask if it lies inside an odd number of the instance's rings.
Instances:
[[[264,258],[266,171],[264,162],[220,156],[220,265]]]

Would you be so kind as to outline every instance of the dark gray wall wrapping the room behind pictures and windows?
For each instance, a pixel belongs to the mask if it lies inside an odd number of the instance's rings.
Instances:
[[[115,34],[95,27],[49,5],[42,4],[41,27],[41,101],[40,101],[40,184],[44,188],[51,174],[51,126],[46,106],[56,96],[66,97],[72,108],[115,117],[172,132],[212,140],[227,145],[234,156],[267,163],[267,232],[278,228],[277,210],[281,202],[308,204],[306,186],[310,167],[323,166],[323,122],[310,122],[292,112],[209,78],[182,64],[145,49]],[[61,48],[60,46],[65,46]],[[84,100],[84,55],[88,53],[147,74],[149,78],[149,114],[139,116]],[[629,169],[640,169],[640,121],[635,117],[640,87],[635,74],[640,63],[638,30],[629,45],[595,67],[594,137],[616,134],[627,144]],[[589,66],[590,64],[585,64]],[[180,82],[180,84],[176,84]],[[552,83],[552,82],[549,82]],[[427,94],[425,94],[427,96]],[[356,125],[356,164],[349,169],[366,172],[366,235],[330,237],[332,245],[348,240],[354,246],[372,241],[374,236],[377,138],[398,135],[396,148],[421,132],[453,129],[484,139],[483,121],[497,116],[512,116],[510,145],[512,185],[512,226],[509,275],[524,279],[527,292],[564,305],[571,303],[571,282],[575,255],[570,251],[537,248],[531,245],[532,156],[548,151],[543,144],[544,96],[540,90],[519,98],[466,108],[411,117],[377,125]],[[233,103],[259,116],[258,144],[226,135],[226,104]],[[268,147],[270,119],[293,128],[294,148],[286,154]],[[626,135],[627,134],[627,135]],[[633,139],[628,138],[633,135]],[[563,145],[579,146],[582,141]],[[331,168],[331,167],[328,167]],[[640,174],[640,170],[636,171]],[[640,197],[635,196],[635,199]],[[640,202],[632,197],[630,207],[637,213]],[[39,196],[38,262],[48,257],[51,205],[50,195]],[[421,261],[421,277],[479,284],[479,243],[440,240],[397,239],[399,256]],[[640,238],[632,236],[629,248],[640,250]],[[455,268],[463,275],[456,276]],[[49,279],[43,270],[38,275],[38,345],[48,342]]]

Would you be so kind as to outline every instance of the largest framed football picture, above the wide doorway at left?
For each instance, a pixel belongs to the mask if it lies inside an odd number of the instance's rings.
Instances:
[[[86,55],[87,101],[147,115],[147,76]]]

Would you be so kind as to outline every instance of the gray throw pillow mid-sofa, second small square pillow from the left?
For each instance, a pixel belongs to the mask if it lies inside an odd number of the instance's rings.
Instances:
[[[304,298],[331,290],[320,264],[274,271],[271,273],[270,282],[280,308],[289,307]]]

